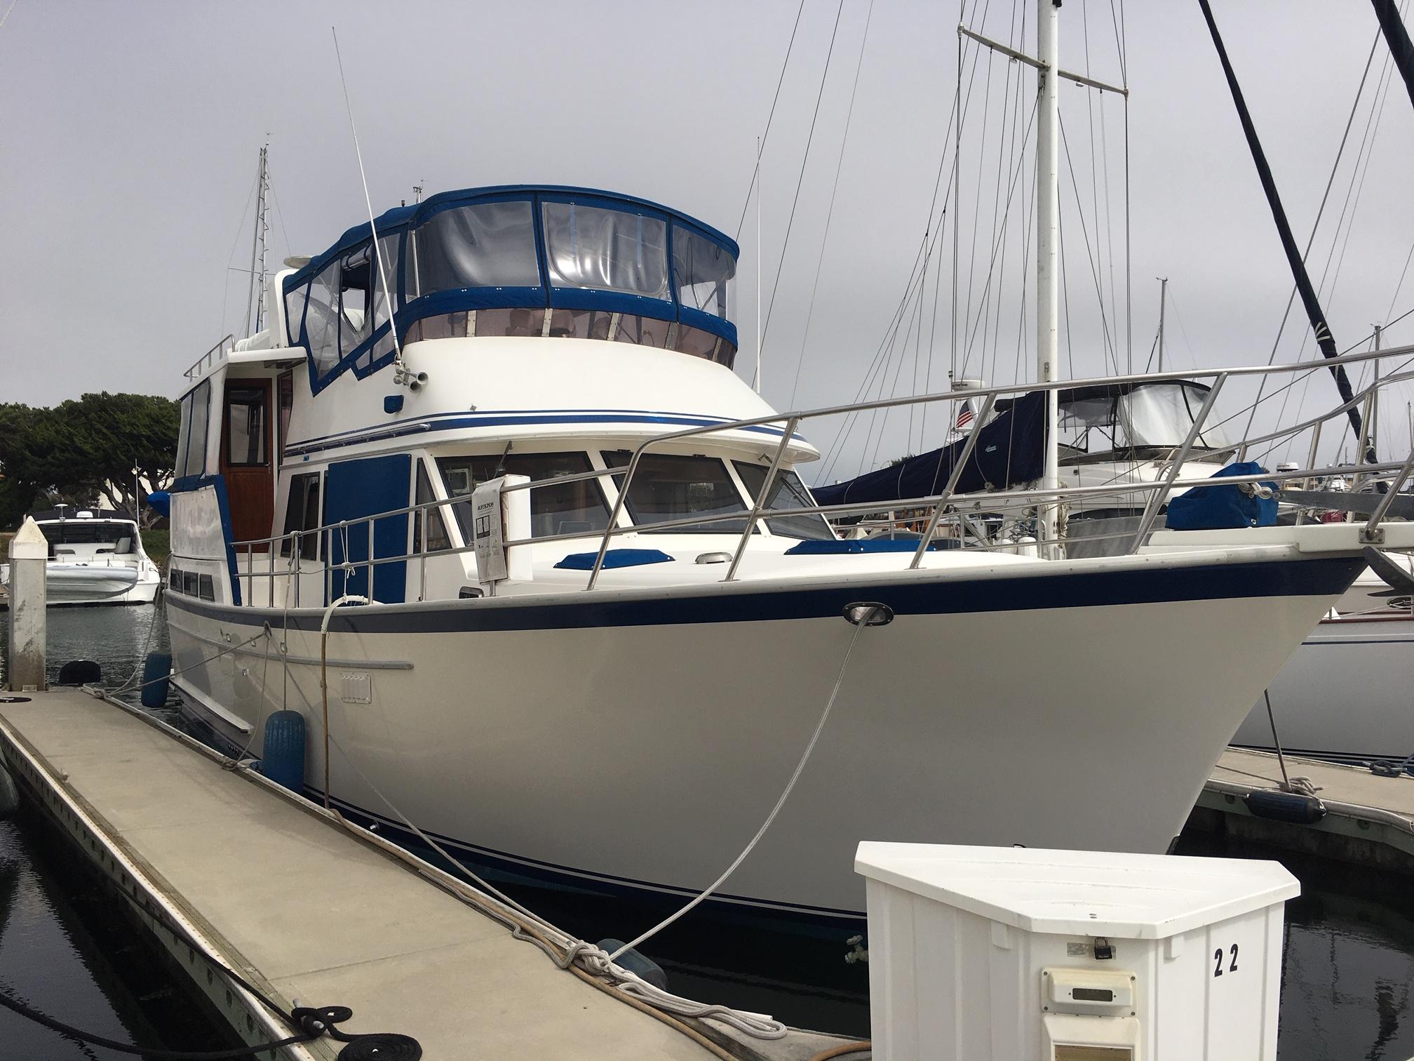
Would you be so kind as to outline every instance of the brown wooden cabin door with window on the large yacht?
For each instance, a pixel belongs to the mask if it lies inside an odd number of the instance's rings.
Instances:
[[[229,379],[221,419],[221,474],[238,542],[269,538],[274,522],[269,379]],[[257,550],[260,552],[260,550]]]

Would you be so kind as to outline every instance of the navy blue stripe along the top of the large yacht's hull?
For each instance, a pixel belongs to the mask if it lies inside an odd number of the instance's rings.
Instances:
[[[991,579],[921,579],[881,574],[847,586],[752,590],[734,583],[715,591],[635,589],[629,593],[588,591],[533,598],[478,598],[341,608],[331,630],[359,634],[444,634],[508,630],[578,630],[588,627],[684,625],[697,622],[761,622],[769,620],[836,618],[846,604],[882,601],[898,615],[956,615],[1035,608],[1093,608],[1241,597],[1335,597],[1365,569],[1359,556],[1332,556],[1266,563],[1215,563],[1130,570],[1070,572]],[[170,594],[170,607],[222,622],[318,630],[321,610],[232,608]]]

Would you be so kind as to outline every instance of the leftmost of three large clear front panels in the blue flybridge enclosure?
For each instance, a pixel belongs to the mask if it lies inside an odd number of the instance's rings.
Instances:
[[[539,287],[529,202],[478,202],[434,214],[409,239],[407,301],[464,287]]]

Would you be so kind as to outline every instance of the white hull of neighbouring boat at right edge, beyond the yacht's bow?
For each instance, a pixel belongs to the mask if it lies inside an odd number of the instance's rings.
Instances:
[[[1321,622],[1271,682],[1282,751],[1352,761],[1414,753],[1414,615],[1349,615]],[[1267,705],[1233,744],[1271,750]]]

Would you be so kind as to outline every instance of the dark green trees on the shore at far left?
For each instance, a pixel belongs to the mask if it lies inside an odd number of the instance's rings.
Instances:
[[[154,488],[177,465],[178,406],[154,395],[83,395],[40,409],[0,403],[0,528],[57,502],[99,497],[143,525],[133,468]]]

